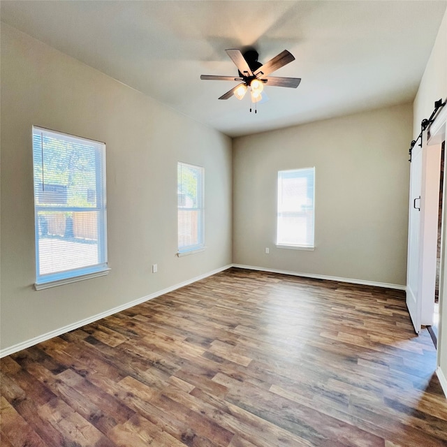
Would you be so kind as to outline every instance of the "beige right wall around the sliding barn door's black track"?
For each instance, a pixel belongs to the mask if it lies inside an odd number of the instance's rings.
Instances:
[[[447,12],[444,14],[437,40],[420,82],[413,104],[413,137],[420,133],[420,122],[430,117],[434,101],[447,100]],[[427,173],[430,177],[430,173]],[[444,225],[447,223],[447,207],[444,207]],[[446,243],[444,241],[444,243]],[[438,340],[439,375],[447,395],[447,264],[444,265],[444,291],[441,293],[440,332]]]

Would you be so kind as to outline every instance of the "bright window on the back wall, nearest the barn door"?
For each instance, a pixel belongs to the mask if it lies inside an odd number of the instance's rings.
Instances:
[[[277,247],[314,248],[315,168],[278,172]]]

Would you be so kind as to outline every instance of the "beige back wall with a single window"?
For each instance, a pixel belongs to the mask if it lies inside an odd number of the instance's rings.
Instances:
[[[407,104],[235,139],[233,263],[404,286],[411,130]],[[315,250],[277,249],[277,172],[311,166]]]

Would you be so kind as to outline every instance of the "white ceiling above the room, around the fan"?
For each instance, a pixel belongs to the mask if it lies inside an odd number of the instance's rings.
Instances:
[[[1,1],[1,20],[230,136],[413,101],[447,1]],[[298,89],[217,98],[226,48],[253,45]]]

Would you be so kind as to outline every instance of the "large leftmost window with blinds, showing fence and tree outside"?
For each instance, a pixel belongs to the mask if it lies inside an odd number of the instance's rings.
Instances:
[[[105,145],[33,127],[36,289],[106,274]]]

